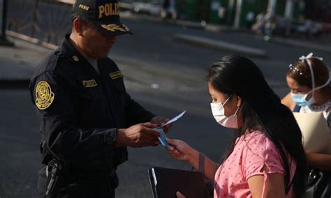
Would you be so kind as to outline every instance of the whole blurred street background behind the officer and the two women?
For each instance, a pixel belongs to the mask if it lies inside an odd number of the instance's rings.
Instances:
[[[0,0],[0,197],[36,197],[40,135],[29,79],[38,63],[71,32],[70,0]],[[186,110],[169,137],[219,161],[232,130],[212,116],[206,68],[229,54],[252,59],[284,97],[285,74],[314,52],[331,64],[330,0],[121,1],[119,36],[109,56],[126,88],[144,107],[173,117]],[[242,82],[244,83],[244,82]],[[117,197],[152,197],[147,169],[190,170],[161,146],[129,148],[119,167]]]

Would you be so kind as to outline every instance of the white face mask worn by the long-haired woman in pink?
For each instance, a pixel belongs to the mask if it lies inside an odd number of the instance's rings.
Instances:
[[[231,98],[231,96],[226,99],[226,102]],[[226,128],[239,128],[238,127],[238,121],[237,121],[237,112],[239,110],[239,107],[235,111],[235,114],[232,116],[227,117],[224,114],[224,105],[226,105],[226,102],[222,104],[221,102],[219,103],[210,103],[210,107],[212,107],[212,114],[214,116],[214,119],[216,120],[217,123],[220,125],[223,125]]]

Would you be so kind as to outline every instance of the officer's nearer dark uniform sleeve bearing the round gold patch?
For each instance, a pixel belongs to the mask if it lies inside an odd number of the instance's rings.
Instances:
[[[31,99],[39,115],[45,146],[62,160],[106,158],[115,146],[117,129],[79,128],[75,100],[67,87],[64,80],[52,72],[31,81]]]

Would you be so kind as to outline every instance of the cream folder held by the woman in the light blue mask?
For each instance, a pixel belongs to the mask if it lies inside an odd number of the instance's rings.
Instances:
[[[304,149],[331,154],[331,135],[322,112],[293,113],[302,132]]]

